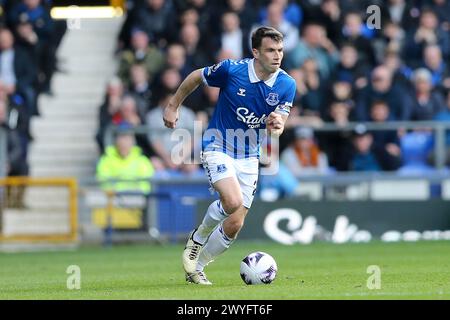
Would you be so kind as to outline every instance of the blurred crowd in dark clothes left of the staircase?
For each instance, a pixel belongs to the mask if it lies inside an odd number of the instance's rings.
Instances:
[[[0,127],[8,176],[28,175],[30,120],[39,116],[38,96],[52,94],[66,23],[51,18],[51,6],[52,0],[0,0]]]

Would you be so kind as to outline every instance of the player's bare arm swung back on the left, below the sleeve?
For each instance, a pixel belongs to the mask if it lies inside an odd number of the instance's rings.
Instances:
[[[177,92],[169,100],[169,103],[164,108],[164,125],[168,128],[175,128],[178,120],[178,108],[183,103],[184,99],[191,94],[192,91],[197,89],[197,87],[203,82],[202,70],[197,69],[192,71],[186,79],[183,80],[181,85],[178,87]]]

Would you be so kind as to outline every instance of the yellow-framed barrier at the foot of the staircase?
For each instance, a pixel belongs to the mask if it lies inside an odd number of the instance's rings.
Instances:
[[[73,178],[0,178],[0,243],[78,242]]]

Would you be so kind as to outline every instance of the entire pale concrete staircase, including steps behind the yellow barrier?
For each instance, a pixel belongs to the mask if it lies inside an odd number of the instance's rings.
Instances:
[[[40,96],[41,116],[31,123],[31,176],[94,178],[98,107],[117,69],[113,53],[121,24],[119,18],[86,19],[79,30],[67,31],[58,51],[67,73],[55,74],[54,95]],[[3,212],[4,235],[68,232],[67,189],[29,187],[24,200],[26,208]]]

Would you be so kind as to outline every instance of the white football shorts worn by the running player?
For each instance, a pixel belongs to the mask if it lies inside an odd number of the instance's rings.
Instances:
[[[258,158],[235,159],[220,151],[205,151],[201,154],[201,161],[208,175],[211,193],[214,193],[213,184],[217,181],[236,177],[241,186],[243,205],[250,208],[258,182]]]

